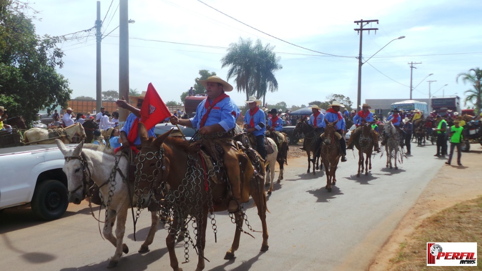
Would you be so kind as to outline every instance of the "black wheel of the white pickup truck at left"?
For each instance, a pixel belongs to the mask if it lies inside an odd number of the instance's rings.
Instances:
[[[32,211],[43,220],[54,220],[67,210],[67,188],[57,180],[46,180],[36,187],[32,197]]]

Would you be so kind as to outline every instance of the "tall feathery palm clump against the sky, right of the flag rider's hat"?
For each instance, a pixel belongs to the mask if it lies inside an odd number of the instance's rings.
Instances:
[[[239,38],[238,43],[231,43],[226,55],[221,59],[222,67],[229,67],[227,79],[234,77],[238,92],[249,96],[266,98],[266,92],[278,90],[278,81],[274,73],[282,69],[280,57],[273,52],[275,47],[263,46],[260,40],[253,46],[251,39]],[[265,101],[263,101],[263,104]]]

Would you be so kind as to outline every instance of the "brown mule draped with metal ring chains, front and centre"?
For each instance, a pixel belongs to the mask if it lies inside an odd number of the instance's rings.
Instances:
[[[157,139],[148,139],[145,126],[139,123],[142,148],[136,157],[135,183],[138,203],[148,204],[150,200],[163,201],[163,206],[173,218],[166,238],[171,267],[175,271],[182,270],[174,251],[175,239],[177,233],[187,228],[188,222],[192,222],[196,225],[193,231],[196,234],[194,247],[198,253],[196,270],[204,269],[206,228],[209,226],[207,218],[209,216],[211,224],[215,225],[213,212],[224,211],[228,205],[229,197],[226,191],[230,189],[226,187],[229,182],[223,178],[224,173],[220,170],[223,167],[240,171],[240,178],[243,181],[242,200],[247,201],[249,195],[253,197],[263,226],[261,251],[268,250],[266,194],[263,182],[255,175],[250,159],[233,148],[221,147],[227,152],[229,159],[223,161],[226,164],[224,166],[219,165],[221,160],[213,166],[215,163],[196,147],[181,139],[169,137],[171,131]],[[236,231],[231,248],[224,256],[225,259],[233,258],[234,251],[239,246],[243,213],[235,212],[233,220],[236,221]],[[189,234],[186,234],[184,239],[188,239],[186,243],[194,243]]]

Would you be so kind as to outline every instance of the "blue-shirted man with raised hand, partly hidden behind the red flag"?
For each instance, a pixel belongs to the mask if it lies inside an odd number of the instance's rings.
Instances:
[[[115,104],[118,107],[131,111],[131,113],[127,116],[126,123],[124,123],[124,126],[121,129],[121,143],[123,146],[131,145],[131,143],[129,143],[128,137],[131,133],[132,125],[135,123],[136,118],[139,118],[139,121],[141,120],[141,108],[142,103],[144,102],[144,98],[146,97],[146,93],[147,91],[143,91],[139,96],[129,95],[129,101],[133,104],[136,104],[137,108],[129,104],[124,97],[122,97],[122,99],[120,100],[115,101]],[[154,133],[154,127],[147,131],[149,137],[156,137],[156,134]],[[131,135],[131,138],[134,138],[132,144],[134,146],[140,146],[141,138],[139,137],[139,133],[134,134],[134,131],[136,130],[137,129],[134,129],[133,134]]]

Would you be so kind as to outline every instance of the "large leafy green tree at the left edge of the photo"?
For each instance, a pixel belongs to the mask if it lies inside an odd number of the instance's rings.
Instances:
[[[72,90],[56,72],[63,67],[61,38],[36,35],[27,9],[19,0],[0,0],[0,104],[31,123],[42,108],[67,106]]]

